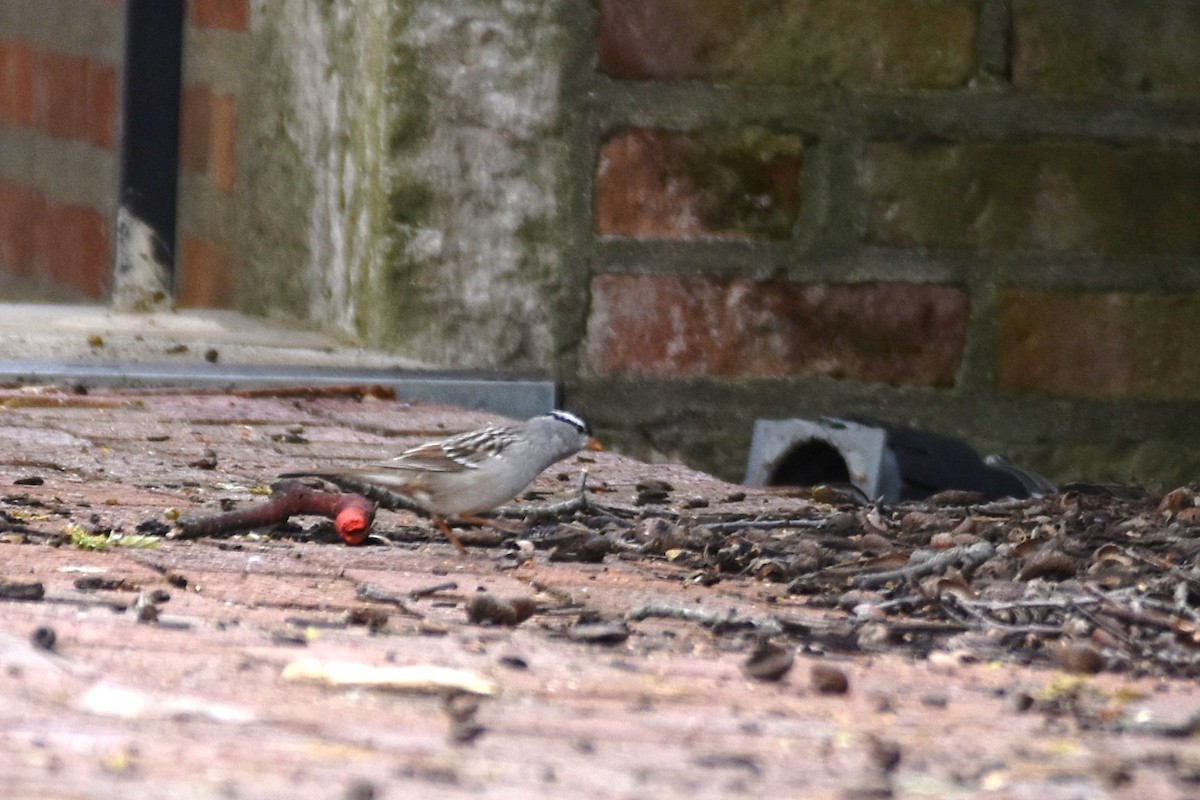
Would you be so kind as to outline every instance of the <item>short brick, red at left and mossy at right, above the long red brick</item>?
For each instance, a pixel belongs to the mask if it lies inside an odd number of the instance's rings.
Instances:
[[[624,131],[600,150],[596,233],[637,239],[786,239],[803,142],[758,128]]]

